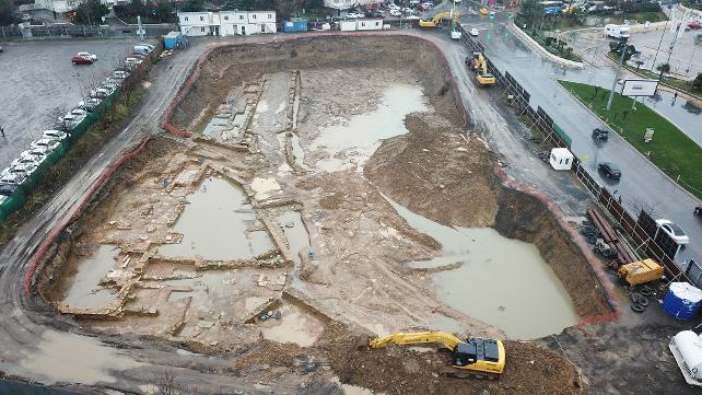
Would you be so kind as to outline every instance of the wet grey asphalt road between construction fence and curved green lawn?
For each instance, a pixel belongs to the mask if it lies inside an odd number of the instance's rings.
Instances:
[[[483,20],[484,21],[484,20]],[[461,21],[463,22],[463,21]],[[635,149],[619,136],[600,143],[592,138],[592,130],[604,127],[558,83],[558,79],[606,85],[613,80],[609,66],[586,65],[583,70],[570,70],[541,59],[507,31],[501,21],[482,22],[480,42],[490,60],[502,71],[508,71],[531,94],[531,105],[541,106],[573,139],[573,152],[587,159],[587,166],[601,185],[622,196],[624,206],[634,211],[642,204],[653,206],[660,213],[682,226],[690,236],[690,245],[681,249],[677,260],[694,258],[702,262],[702,221],[692,216],[699,200],[666,177]],[[699,130],[699,123],[695,128]],[[599,162],[615,162],[622,169],[622,178],[612,182],[596,171]]]

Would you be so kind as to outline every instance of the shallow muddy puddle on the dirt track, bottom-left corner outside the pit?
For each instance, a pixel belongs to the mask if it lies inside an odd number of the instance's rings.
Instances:
[[[117,379],[110,370],[122,371],[141,365],[94,338],[54,330],[44,333],[35,350],[24,352],[26,357],[19,368],[42,374],[51,383],[114,383]]]

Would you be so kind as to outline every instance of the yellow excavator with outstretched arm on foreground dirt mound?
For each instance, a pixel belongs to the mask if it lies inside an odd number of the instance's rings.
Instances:
[[[452,351],[453,368],[441,372],[459,379],[500,377],[504,371],[504,345],[500,340],[479,337],[460,340],[446,332],[419,332],[413,334],[395,333],[368,341],[370,348],[390,345],[423,345],[437,342]]]

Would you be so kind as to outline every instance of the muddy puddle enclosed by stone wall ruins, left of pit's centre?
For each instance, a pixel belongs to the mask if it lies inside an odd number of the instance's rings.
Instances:
[[[224,178],[206,178],[178,218],[179,244],[159,247],[164,256],[196,256],[208,260],[246,259],[272,248],[266,232],[249,232],[256,214],[244,190]]]

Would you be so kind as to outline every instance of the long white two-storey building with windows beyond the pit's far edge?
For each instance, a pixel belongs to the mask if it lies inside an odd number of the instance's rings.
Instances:
[[[178,12],[186,36],[234,36],[276,33],[274,11]]]

